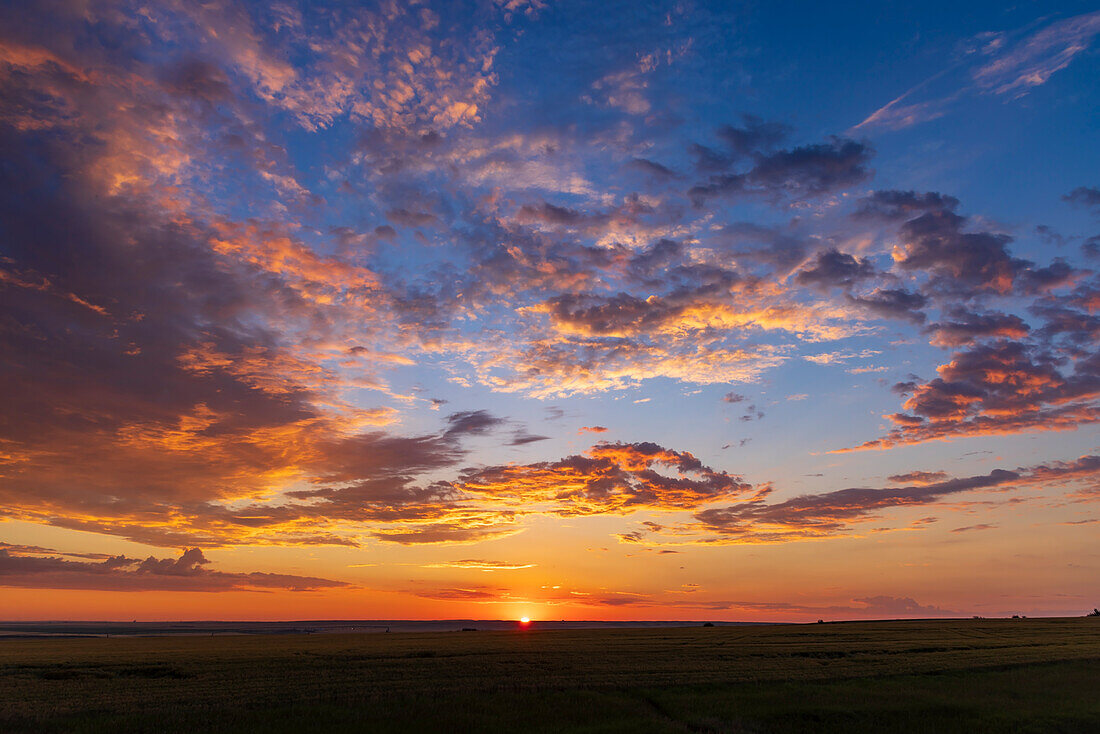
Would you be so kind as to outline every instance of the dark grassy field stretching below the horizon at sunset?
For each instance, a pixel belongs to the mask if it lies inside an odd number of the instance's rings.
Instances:
[[[0,640],[2,732],[1100,732],[1100,620]]]

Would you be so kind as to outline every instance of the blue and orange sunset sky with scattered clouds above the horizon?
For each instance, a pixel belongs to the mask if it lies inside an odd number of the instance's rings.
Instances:
[[[1087,2],[0,4],[0,618],[1100,603]]]

